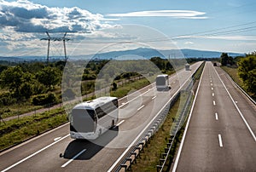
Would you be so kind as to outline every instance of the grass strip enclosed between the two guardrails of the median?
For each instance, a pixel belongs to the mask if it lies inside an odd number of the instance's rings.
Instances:
[[[160,129],[151,138],[150,144],[144,148],[141,158],[137,158],[137,164],[132,165],[132,171],[156,171],[156,165],[159,164],[160,155],[164,152],[168,139],[170,138],[172,119],[177,114],[179,104],[180,100],[177,99],[166,116],[165,123],[162,124]]]

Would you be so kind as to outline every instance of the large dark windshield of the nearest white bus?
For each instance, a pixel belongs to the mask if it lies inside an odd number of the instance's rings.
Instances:
[[[96,117],[94,110],[73,109],[73,130],[77,132],[94,132],[96,125]]]

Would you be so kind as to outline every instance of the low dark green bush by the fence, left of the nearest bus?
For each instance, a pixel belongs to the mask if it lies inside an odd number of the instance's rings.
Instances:
[[[32,99],[32,104],[35,106],[44,106],[49,104],[56,104],[58,102],[54,93],[48,93],[44,95],[37,95]]]

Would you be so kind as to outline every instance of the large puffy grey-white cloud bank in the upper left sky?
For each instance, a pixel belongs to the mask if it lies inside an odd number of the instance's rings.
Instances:
[[[94,32],[112,25],[102,14],[73,8],[49,8],[27,0],[0,1],[0,28],[12,26],[16,32]]]

